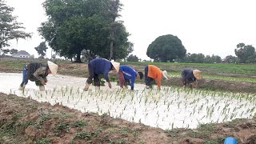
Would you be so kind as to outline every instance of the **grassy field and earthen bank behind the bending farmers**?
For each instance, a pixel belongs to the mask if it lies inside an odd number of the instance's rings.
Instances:
[[[46,60],[36,61],[46,64]],[[58,64],[58,74],[76,77],[88,77],[86,63],[73,63],[68,61],[54,61]],[[22,67],[29,61],[2,61],[0,72],[22,72]],[[203,80],[198,88],[203,90],[222,90],[231,92],[255,93],[256,69],[255,65],[243,64],[195,64],[195,63],[170,63],[170,62],[121,62],[121,65],[133,67],[135,70],[144,72],[145,66],[152,64],[162,70],[167,70],[170,80],[164,80],[164,86],[182,86],[182,69],[191,68],[202,70]],[[110,73],[111,80],[118,81],[118,75]],[[136,82],[144,83],[144,79]]]

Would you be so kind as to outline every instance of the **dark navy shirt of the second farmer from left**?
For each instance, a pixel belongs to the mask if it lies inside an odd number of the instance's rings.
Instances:
[[[105,58],[95,58],[91,60],[89,64],[90,68],[94,70],[94,74],[103,74],[106,82],[110,82],[108,74],[112,69],[112,64],[109,60]]]

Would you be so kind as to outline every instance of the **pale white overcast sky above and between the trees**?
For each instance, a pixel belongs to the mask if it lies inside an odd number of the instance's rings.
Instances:
[[[12,42],[12,48],[38,56],[34,47],[43,39],[37,29],[46,21],[44,0],[7,0],[18,22],[33,38]],[[146,49],[161,35],[181,39],[187,53],[234,55],[239,42],[256,47],[255,0],[121,0],[124,25],[138,58],[149,59]],[[171,51],[170,51],[171,53]],[[47,50],[50,57],[50,50]]]

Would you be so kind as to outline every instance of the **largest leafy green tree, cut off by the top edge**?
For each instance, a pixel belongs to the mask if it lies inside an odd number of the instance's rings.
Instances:
[[[125,26],[115,21],[118,13],[113,2],[118,0],[46,0],[49,16],[38,29],[52,49],[66,58],[81,62],[81,53],[90,58],[110,58],[110,43],[114,58],[126,58],[130,47]],[[115,17],[113,16],[115,14]],[[120,54],[119,51],[122,51]]]

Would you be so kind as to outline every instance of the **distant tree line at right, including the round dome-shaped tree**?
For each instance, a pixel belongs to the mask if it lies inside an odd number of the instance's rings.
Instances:
[[[190,54],[182,41],[172,34],[159,36],[151,42],[147,48],[146,55],[154,62],[189,62],[189,63],[256,63],[256,52],[254,46],[238,43],[234,49],[235,56],[227,55],[221,58],[218,55]],[[136,55],[130,55],[130,59],[136,61]],[[138,59],[138,58],[137,58]]]

